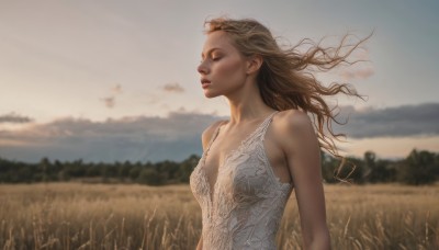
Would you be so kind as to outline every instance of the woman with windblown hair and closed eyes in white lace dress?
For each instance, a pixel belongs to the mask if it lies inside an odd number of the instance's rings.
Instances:
[[[296,48],[304,41],[282,49],[255,20],[206,24],[201,86],[206,98],[227,98],[230,120],[203,132],[203,156],[190,178],[202,208],[198,249],[275,249],[293,189],[304,249],[329,249],[320,148],[337,155],[333,138],[338,135],[322,96],[359,95],[347,84],[322,86],[308,69],[346,61],[362,41],[345,54],[341,43],[334,50],[314,45],[302,55]]]

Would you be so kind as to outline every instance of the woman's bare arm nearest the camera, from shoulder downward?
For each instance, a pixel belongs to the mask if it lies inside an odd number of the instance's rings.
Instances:
[[[295,188],[303,247],[308,250],[330,249],[320,151],[313,124],[305,113],[293,110],[282,115],[281,124],[284,139],[280,141]]]

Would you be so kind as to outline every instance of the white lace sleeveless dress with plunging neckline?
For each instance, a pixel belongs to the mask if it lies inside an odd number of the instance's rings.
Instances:
[[[275,235],[292,191],[291,183],[274,175],[262,144],[277,112],[226,155],[213,191],[204,164],[221,125],[191,173],[190,186],[202,209],[203,249],[277,249]]]

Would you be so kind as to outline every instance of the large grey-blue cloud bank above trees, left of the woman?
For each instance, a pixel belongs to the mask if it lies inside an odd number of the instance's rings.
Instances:
[[[168,117],[124,117],[92,122],[63,118],[22,130],[0,130],[1,157],[24,161],[183,160],[202,154],[201,133],[218,116],[184,111]]]

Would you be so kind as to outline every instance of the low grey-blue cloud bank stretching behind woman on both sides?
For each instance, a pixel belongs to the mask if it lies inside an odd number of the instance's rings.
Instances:
[[[439,135],[439,103],[354,110],[342,106],[336,133],[348,138],[406,138]],[[0,130],[0,157],[35,162],[42,157],[85,161],[180,161],[201,156],[201,134],[227,117],[180,109],[167,117],[131,116],[93,122],[61,118],[23,129]]]

